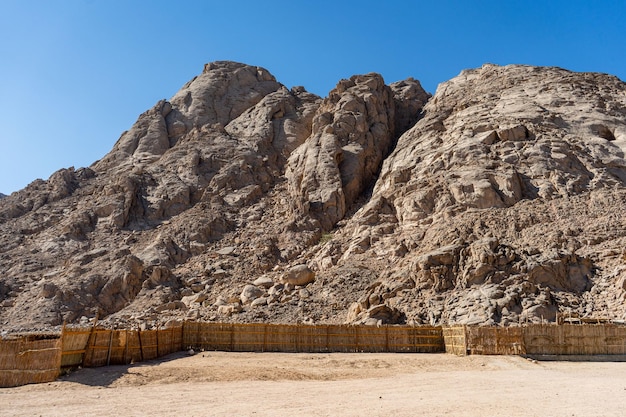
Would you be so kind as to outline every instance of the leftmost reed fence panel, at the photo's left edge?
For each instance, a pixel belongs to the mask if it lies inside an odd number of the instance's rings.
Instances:
[[[60,371],[60,337],[30,335],[0,339],[0,388],[51,382]]]

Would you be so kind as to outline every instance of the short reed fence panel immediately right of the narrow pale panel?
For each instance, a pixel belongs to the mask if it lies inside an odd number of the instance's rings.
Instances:
[[[475,355],[525,354],[521,327],[467,327],[466,345]]]

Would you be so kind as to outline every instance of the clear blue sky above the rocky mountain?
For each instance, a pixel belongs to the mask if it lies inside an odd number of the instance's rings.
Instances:
[[[204,63],[325,96],[379,72],[437,84],[485,62],[626,80],[626,1],[0,0],[0,192],[104,156]]]

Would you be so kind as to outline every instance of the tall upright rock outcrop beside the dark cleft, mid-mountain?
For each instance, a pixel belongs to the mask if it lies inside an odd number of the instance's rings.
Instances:
[[[330,230],[373,184],[397,134],[414,123],[428,95],[417,81],[385,85],[378,74],[342,80],[321,104],[313,135],[291,155],[286,177],[300,216]],[[398,108],[398,115],[396,115]]]

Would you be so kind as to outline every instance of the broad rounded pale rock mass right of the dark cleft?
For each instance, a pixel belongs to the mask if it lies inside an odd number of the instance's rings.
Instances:
[[[599,240],[611,235],[611,251],[623,250],[625,92],[615,77],[526,66],[485,65],[442,84],[352,219],[341,260],[390,249],[401,259],[355,307],[364,320],[383,298],[421,322],[506,324],[579,309],[604,263],[589,226],[613,217]]]

